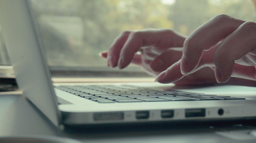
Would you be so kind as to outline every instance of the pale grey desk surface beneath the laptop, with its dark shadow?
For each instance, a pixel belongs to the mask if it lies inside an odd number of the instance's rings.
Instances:
[[[237,89],[237,88],[236,88]],[[203,89],[202,89],[203,90]],[[238,90],[238,89],[237,89]],[[246,88],[248,96],[256,94],[256,88]],[[236,92],[237,93],[237,92]],[[14,94],[14,95],[13,95]],[[172,125],[127,125],[56,128],[25,96],[18,93],[0,93],[0,137],[3,136],[65,136],[83,142],[256,142],[249,132],[256,130],[256,121],[236,122],[238,125],[200,123]],[[242,124],[242,125],[240,125]],[[256,133],[255,133],[256,134]]]

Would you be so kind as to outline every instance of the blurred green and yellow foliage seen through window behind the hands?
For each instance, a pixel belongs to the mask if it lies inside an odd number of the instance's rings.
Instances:
[[[124,30],[174,29],[189,35],[218,14],[256,21],[250,0],[32,0],[53,74],[146,76],[119,71],[98,53]],[[10,65],[0,27],[0,65]],[[125,72],[125,73],[124,73]],[[133,73],[137,74],[133,74]]]

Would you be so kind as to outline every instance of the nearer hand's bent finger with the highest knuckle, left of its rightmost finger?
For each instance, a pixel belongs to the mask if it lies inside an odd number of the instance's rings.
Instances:
[[[182,73],[194,70],[204,50],[216,45],[244,22],[228,15],[218,15],[198,27],[184,42],[181,61]]]

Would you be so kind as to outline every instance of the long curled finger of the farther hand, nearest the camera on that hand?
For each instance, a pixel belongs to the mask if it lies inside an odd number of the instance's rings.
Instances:
[[[129,34],[127,42],[121,49],[119,55],[118,66],[124,69],[131,63],[134,54],[143,46],[155,46],[159,49],[167,49],[173,46],[173,41],[183,41],[182,36],[177,35],[171,30],[145,30],[140,32],[132,32]]]

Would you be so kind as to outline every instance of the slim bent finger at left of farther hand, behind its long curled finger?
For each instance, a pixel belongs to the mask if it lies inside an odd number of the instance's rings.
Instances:
[[[112,43],[112,46],[110,46],[109,57],[107,58],[107,63],[110,67],[118,66],[119,54],[125,42],[127,41],[129,33],[131,32],[123,32],[118,36],[118,38],[115,39],[115,41]]]

